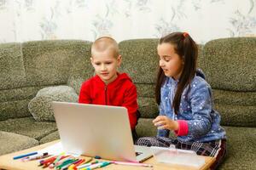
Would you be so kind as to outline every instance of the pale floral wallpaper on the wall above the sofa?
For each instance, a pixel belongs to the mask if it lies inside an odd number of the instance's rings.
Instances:
[[[0,0],[0,42],[256,36],[256,0]]]

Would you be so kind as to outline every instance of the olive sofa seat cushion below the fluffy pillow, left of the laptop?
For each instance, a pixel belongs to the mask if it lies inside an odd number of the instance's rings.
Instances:
[[[0,129],[9,133],[17,133],[40,140],[57,130],[55,122],[37,122],[32,116],[9,119],[0,122]]]

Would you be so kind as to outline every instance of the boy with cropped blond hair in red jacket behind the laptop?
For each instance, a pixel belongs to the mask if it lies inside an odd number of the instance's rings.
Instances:
[[[91,65],[96,76],[83,82],[79,103],[125,106],[128,110],[132,138],[137,139],[137,89],[131,78],[119,73],[121,65],[118,43],[112,37],[100,37],[91,46]]]

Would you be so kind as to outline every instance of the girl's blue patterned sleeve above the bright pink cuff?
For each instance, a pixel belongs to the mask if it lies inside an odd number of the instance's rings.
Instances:
[[[212,126],[210,86],[207,83],[192,83],[189,99],[193,120],[188,121],[188,135],[196,139],[206,135]]]

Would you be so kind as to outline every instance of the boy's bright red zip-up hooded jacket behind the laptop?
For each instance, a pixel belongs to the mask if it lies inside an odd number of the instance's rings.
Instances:
[[[137,89],[125,73],[118,74],[118,77],[108,85],[105,85],[98,76],[83,82],[79,103],[125,106],[128,110],[131,129],[135,129],[137,125]]]

